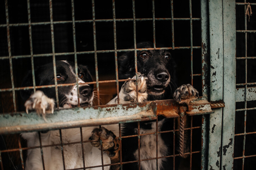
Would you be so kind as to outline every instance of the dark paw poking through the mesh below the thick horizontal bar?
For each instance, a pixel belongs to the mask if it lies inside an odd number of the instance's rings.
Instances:
[[[97,140],[92,141],[91,144],[92,146],[98,147],[99,149],[101,140],[103,151],[110,149],[117,150],[119,148],[115,134],[112,131],[107,130],[105,127],[95,128],[92,131],[92,136],[89,138],[89,140]]]

